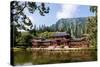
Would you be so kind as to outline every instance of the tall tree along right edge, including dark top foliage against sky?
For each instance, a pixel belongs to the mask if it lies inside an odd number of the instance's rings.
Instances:
[[[90,34],[90,44],[97,47],[97,6],[90,6],[90,11],[95,13],[94,17],[88,18],[87,33]]]

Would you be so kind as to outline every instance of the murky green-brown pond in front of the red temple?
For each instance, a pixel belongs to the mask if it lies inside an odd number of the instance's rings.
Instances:
[[[36,65],[96,61],[97,49],[47,50],[30,49],[14,51],[14,65]]]

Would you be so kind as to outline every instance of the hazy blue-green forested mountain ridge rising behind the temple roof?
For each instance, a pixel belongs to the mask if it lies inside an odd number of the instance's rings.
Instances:
[[[54,31],[70,33],[72,37],[80,37],[87,32],[89,17],[62,18],[50,26]]]

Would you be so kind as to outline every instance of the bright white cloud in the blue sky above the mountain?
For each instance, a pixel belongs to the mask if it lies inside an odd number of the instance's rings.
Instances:
[[[61,11],[58,11],[56,14],[57,19],[61,18],[72,18],[74,14],[77,12],[78,6],[77,5],[62,5]]]

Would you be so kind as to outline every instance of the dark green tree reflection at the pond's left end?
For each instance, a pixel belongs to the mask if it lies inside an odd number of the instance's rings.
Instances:
[[[27,63],[32,63],[32,51],[20,50],[14,52],[15,65],[24,65]]]

